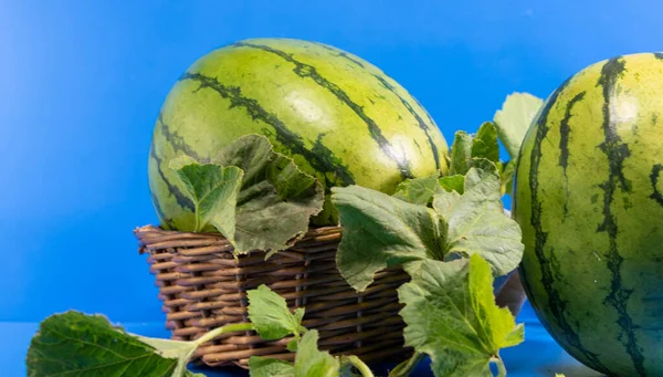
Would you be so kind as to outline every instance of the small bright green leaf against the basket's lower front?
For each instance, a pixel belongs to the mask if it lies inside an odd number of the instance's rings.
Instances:
[[[299,338],[304,308],[291,313],[285,299],[261,284],[246,292],[249,296],[249,321],[265,341],[276,341],[294,334]]]

